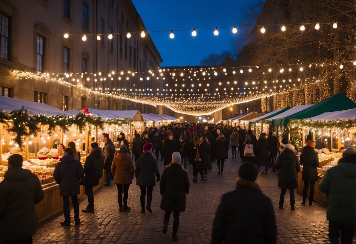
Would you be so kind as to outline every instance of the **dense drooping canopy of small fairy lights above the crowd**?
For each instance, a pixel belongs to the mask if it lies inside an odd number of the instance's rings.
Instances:
[[[305,83],[318,83],[320,77],[310,78],[308,73],[328,65],[334,65],[341,70],[344,65],[355,66],[356,61],[349,60],[343,64],[334,62],[244,67],[166,67],[147,72],[121,70],[106,73],[55,74],[13,70],[12,74],[19,79],[57,81],[89,93],[105,94],[142,104],[162,105],[175,112],[208,115],[234,104],[281,94],[294,88],[300,89]],[[275,73],[281,79],[259,80],[258,77],[251,79],[254,73]],[[288,77],[295,73],[298,73],[297,78]],[[132,78],[135,82],[132,82]],[[152,87],[153,83],[150,82],[152,80],[158,80],[157,87]],[[85,82],[91,82],[93,86],[87,87]],[[105,86],[103,82],[107,82],[105,88],[101,87]]]

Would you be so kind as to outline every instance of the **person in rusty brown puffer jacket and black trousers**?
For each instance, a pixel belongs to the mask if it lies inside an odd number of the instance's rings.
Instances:
[[[117,186],[119,211],[129,211],[131,208],[127,206],[127,198],[135,169],[133,168],[129,149],[126,146],[123,146],[119,153],[116,154],[114,160],[112,160],[111,173],[114,175],[114,184]],[[124,193],[124,205],[122,205],[122,193]]]

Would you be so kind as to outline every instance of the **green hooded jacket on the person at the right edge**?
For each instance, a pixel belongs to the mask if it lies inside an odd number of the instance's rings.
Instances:
[[[328,169],[319,184],[328,196],[326,218],[356,229],[356,154],[347,155]]]

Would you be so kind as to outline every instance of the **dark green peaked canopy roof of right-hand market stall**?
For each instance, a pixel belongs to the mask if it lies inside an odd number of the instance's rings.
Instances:
[[[355,102],[348,97],[338,93],[334,96],[324,99],[321,102],[318,102],[317,104],[314,104],[313,106],[305,108],[302,111],[283,118],[272,120],[272,124],[287,126],[289,120],[291,119],[310,118],[325,112],[334,112],[351,108],[356,108]]]

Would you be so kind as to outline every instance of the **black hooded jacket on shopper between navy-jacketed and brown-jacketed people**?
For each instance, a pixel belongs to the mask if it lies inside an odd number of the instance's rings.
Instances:
[[[84,185],[97,186],[99,179],[103,177],[103,169],[105,168],[103,153],[101,147],[93,148],[90,155],[85,159],[84,164]]]

